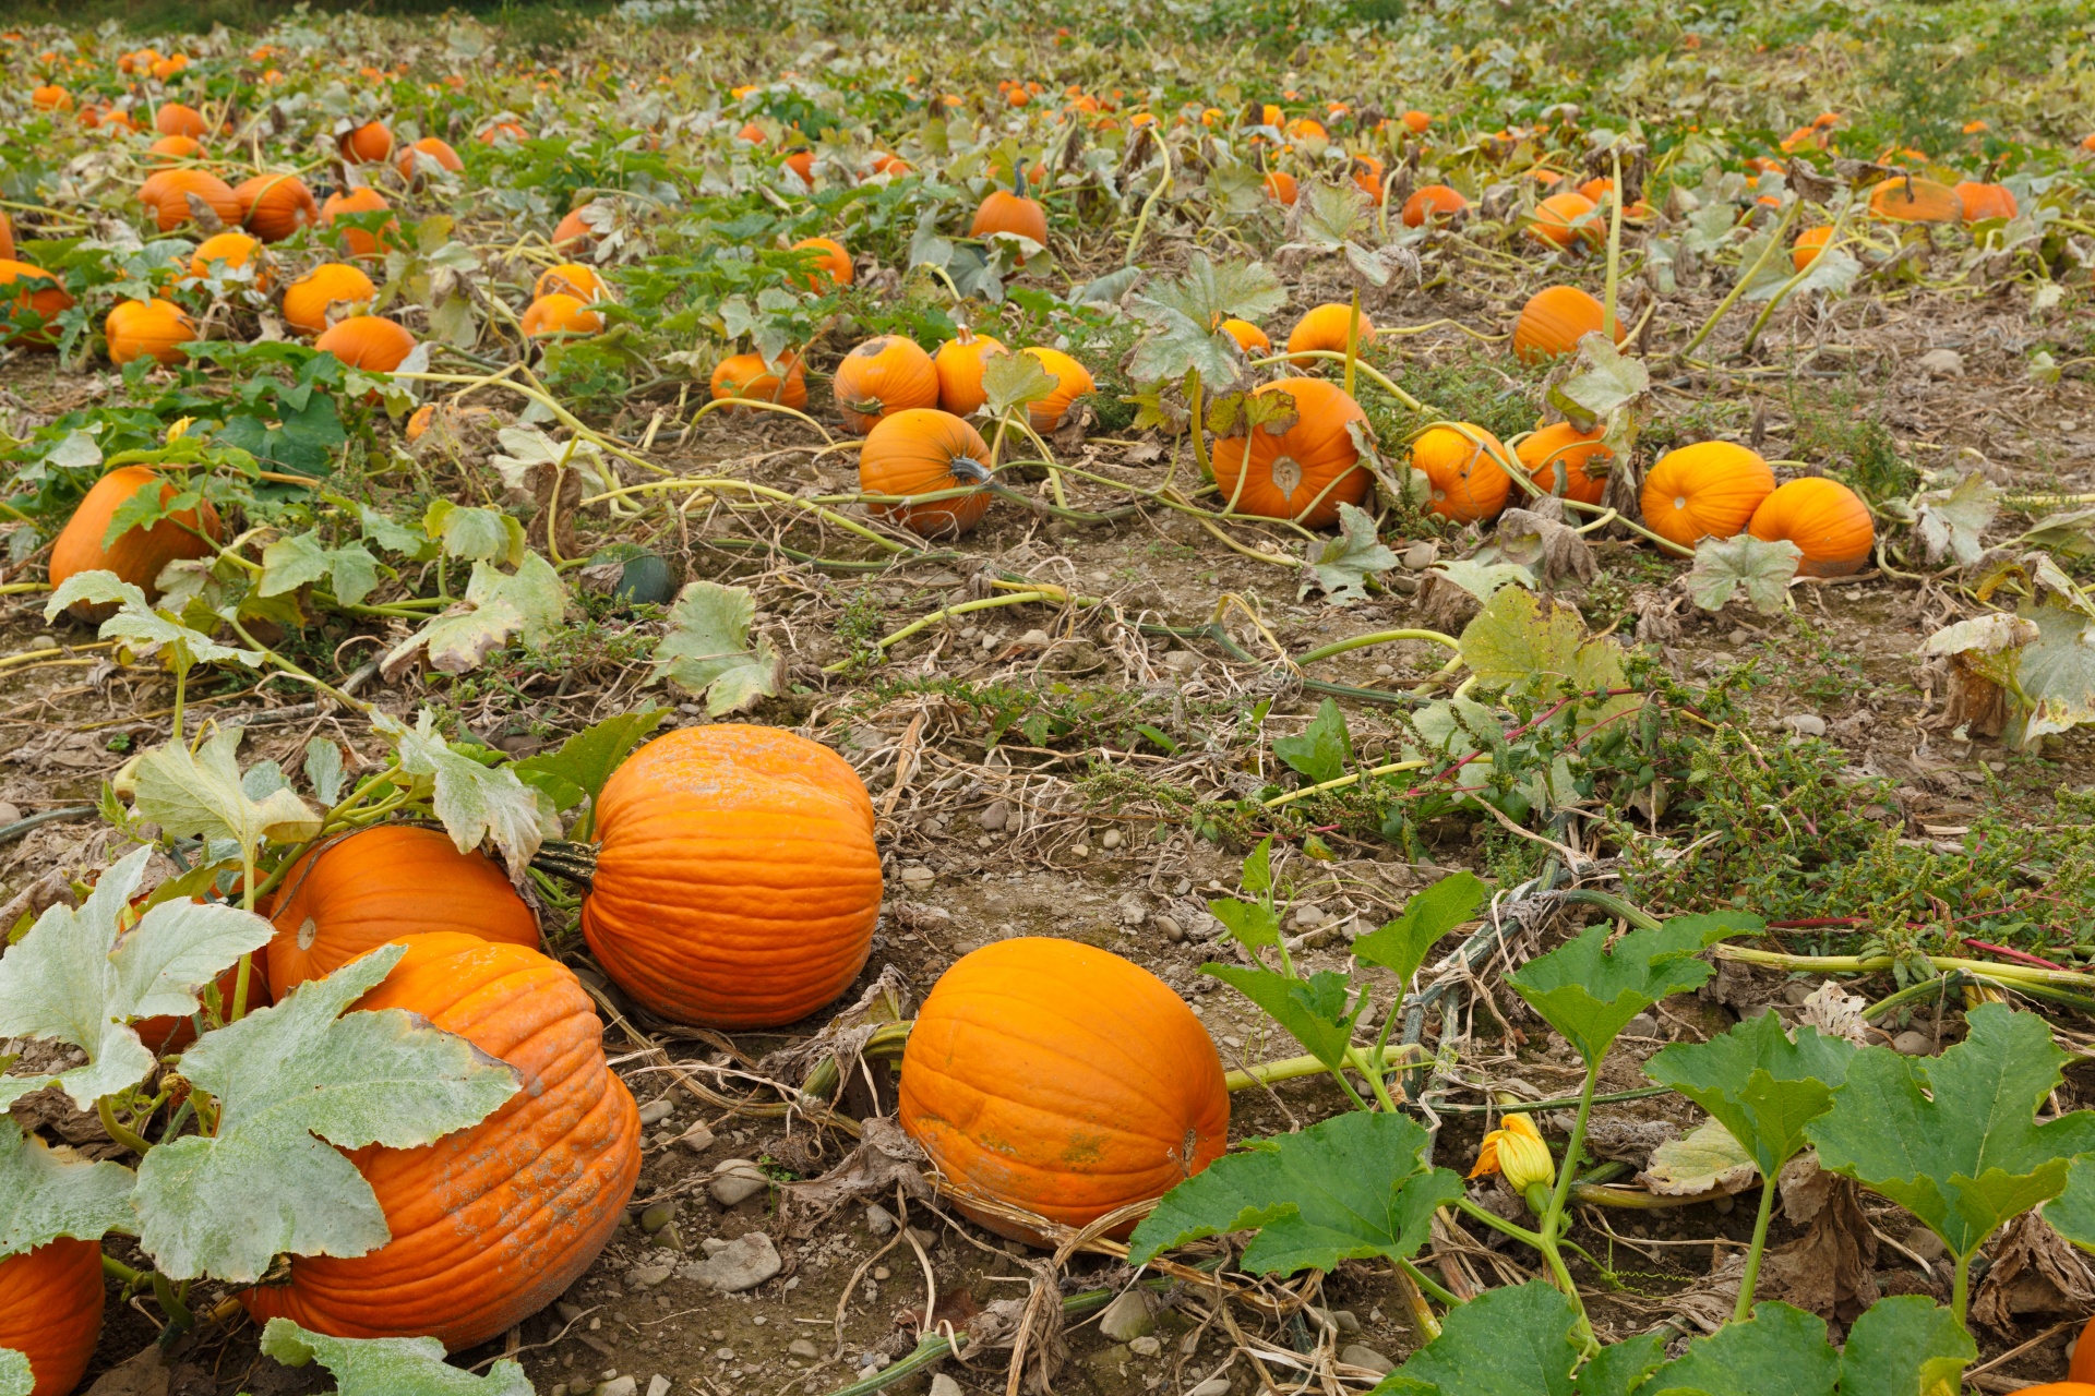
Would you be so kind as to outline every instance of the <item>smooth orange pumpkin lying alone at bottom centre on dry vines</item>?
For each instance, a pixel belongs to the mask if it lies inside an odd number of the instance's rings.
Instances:
[[[903,1049],[897,1120],[964,1193],[1087,1226],[1221,1157],[1230,1090],[1207,1028],[1163,980],[1110,950],[1020,936],[939,975]]]

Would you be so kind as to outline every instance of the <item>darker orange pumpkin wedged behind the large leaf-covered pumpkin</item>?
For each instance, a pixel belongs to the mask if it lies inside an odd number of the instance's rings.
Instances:
[[[421,931],[538,944],[538,919],[486,854],[461,854],[450,835],[411,825],[375,825],[308,852],[262,913],[277,927],[266,954],[279,994]]]

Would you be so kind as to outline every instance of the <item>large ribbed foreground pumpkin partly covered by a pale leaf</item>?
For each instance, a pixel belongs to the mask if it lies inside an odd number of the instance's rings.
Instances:
[[[421,1149],[371,1145],[392,1241],[367,1256],[297,1256],[289,1283],[247,1289],[256,1323],[295,1319],[337,1337],[499,1337],[557,1300],[618,1231],[639,1180],[639,1111],[603,1063],[603,1021],[566,965],[471,936],[400,938],[409,950],[358,1009],[404,1009],[524,1078],[480,1124]]]

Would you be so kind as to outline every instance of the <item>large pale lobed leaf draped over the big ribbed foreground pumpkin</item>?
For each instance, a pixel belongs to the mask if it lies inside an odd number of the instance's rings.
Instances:
[[[520,1090],[509,1065],[413,1013],[348,1013],[402,954],[379,946],[182,1055],[220,1113],[216,1134],[161,1143],[138,1166],[138,1243],[161,1273],[251,1283],[274,1256],[385,1245],[377,1193],[339,1149],[415,1149]]]

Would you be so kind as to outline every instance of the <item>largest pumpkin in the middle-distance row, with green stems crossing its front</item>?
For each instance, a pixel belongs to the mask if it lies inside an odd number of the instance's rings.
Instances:
[[[1303,527],[1330,527],[1339,504],[1360,504],[1372,483],[1360,467],[1360,446],[1347,423],[1366,423],[1347,391],[1324,379],[1280,379],[1257,393],[1293,398],[1295,425],[1272,423],[1251,435],[1215,440],[1215,483],[1230,509],[1261,519],[1295,519]]]

